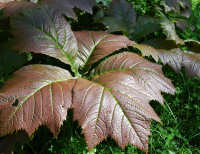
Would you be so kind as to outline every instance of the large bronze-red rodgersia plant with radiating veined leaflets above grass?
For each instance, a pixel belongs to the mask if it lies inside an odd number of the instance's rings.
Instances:
[[[200,76],[199,55],[156,49],[103,31],[72,31],[64,16],[76,18],[74,7],[92,13],[94,5],[93,0],[0,3],[15,50],[54,57],[73,72],[42,64],[16,71],[0,89],[1,136],[18,130],[30,136],[41,125],[57,136],[73,109],[88,149],[110,136],[122,148],[132,144],[148,152],[150,122],[160,122],[149,101],[164,104],[161,91],[173,94],[175,88],[161,65],[128,50],[115,51],[133,46],[176,70],[185,66],[191,76]]]

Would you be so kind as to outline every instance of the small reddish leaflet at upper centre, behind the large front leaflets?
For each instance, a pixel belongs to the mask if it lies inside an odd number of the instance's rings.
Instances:
[[[133,44],[127,37],[112,35],[102,31],[76,31],[74,35],[78,41],[80,66],[89,69],[90,66],[119,50]]]

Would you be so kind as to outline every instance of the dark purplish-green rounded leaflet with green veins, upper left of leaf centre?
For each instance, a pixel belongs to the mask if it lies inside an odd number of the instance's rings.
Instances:
[[[74,63],[78,51],[70,25],[58,12],[37,7],[12,18],[15,49],[42,53],[66,64]]]

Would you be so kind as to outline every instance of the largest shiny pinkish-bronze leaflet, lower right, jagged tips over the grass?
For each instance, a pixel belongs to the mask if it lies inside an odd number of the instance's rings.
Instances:
[[[73,88],[74,120],[82,126],[88,148],[111,136],[124,148],[148,151],[150,121],[160,121],[150,100],[163,103],[161,91],[174,93],[161,66],[133,53],[111,56],[91,81],[77,79]]]

